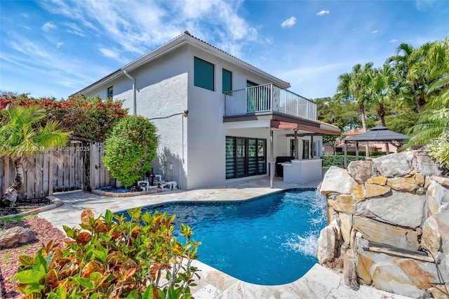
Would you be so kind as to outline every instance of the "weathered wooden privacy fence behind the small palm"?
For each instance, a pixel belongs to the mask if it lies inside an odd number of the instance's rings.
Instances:
[[[94,190],[110,185],[109,171],[102,161],[102,142],[76,141],[27,157],[23,164],[23,189],[20,199],[47,197],[53,192]],[[0,159],[0,197],[15,177],[10,158]]]

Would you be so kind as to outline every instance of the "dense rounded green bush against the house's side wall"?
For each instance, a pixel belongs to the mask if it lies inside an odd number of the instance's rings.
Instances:
[[[156,126],[151,121],[126,117],[107,138],[103,161],[111,175],[128,187],[151,169],[157,146]]]

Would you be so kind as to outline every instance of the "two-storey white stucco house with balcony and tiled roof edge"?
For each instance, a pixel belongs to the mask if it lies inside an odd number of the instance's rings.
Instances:
[[[112,96],[151,119],[160,136],[154,173],[182,189],[266,175],[273,187],[276,157],[296,154],[302,172],[321,175],[321,135],[340,134],[289,87],[184,32],[74,95]]]

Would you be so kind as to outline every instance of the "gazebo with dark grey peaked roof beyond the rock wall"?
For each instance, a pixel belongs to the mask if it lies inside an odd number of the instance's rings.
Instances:
[[[398,146],[402,145],[403,140],[408,138],[407,135],[390,131],[384,126],[375,126],[370,131],[349,138],[344,138],[344,168],[347,168],[347,144],[349,142],[356,143],[356,159],[358,159],[358,142],[397,142]]]

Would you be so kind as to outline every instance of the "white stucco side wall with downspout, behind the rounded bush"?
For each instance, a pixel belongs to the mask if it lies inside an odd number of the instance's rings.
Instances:
[[[175,180],[182,189],[187,187],[189,118],[182,114],[170,115],[187,109],[187,60],[181,47],[128,72],[135,79],[137,114],[152,119],[157,127],[159,148],[153,161],[154,173],[161,174],[165,180]],[[133,81],[124,75],[86,95],[106,98],[109,86],[114,87],[114,100],[123,100],[123,107],[133,114]],[[158,117],[163,119],[154,119]]]

